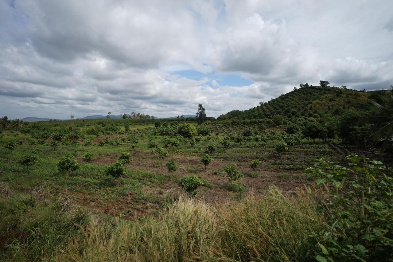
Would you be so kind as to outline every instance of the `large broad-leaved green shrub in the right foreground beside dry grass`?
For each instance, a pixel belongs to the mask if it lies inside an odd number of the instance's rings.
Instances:
[[[347,160],[342,167],[321,158],[307,169],[325,196],[315,205],[330,227],[323,237],[311,236],[320,247],[316,259],[384,261],[393,255],[392,170],[364,156]]]

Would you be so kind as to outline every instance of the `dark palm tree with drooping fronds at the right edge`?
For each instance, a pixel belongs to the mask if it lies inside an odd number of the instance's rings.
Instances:
[[[374,102],[379,109],[379,116],[366,117],[358,122],[373,124],[371,128],[374,133],[370,137],[374,140],[384,140],[381,153],[393,142],[393,85],[386,91],[386,99],[386,106]]]

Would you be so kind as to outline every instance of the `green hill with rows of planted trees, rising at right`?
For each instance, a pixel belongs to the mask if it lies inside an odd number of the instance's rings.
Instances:
[[[278,98],[261,103],[252,109],[233,110],[220,115],[219,120],[226,119],[263,119],[281,114],[287,117],[316,115],[339,115],[345,109],[369,111],[374,106],[378,95],[369,92],[340,89],[338,87],[303,87]]]

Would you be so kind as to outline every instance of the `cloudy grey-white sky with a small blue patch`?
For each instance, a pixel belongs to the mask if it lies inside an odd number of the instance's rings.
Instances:
[[[392,0],[0,0],[0,115],[250,109],[393,85]]]

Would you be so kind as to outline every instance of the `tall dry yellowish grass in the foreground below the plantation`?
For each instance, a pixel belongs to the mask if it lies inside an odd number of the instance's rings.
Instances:
[[[58,261],[304,260],[316,243],[308,236],[326,230],[310,206],[312,195],[284,197],[273,188],[266,196],[248,194],[241,202],[215,207],[182,196],[160,219],[96,219],[56,251]]]

